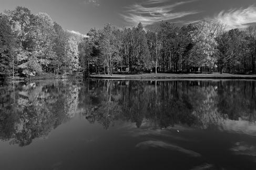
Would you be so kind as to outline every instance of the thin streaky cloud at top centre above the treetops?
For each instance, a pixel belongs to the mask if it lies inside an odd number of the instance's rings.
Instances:
[[[194,1],[166,4],[167,0],[146,0],[128,7],[126,14],[120,14],[128,23],[150,25],[161,20],[171,20],[199,13],[198,11],[174,12],[175,8]]]

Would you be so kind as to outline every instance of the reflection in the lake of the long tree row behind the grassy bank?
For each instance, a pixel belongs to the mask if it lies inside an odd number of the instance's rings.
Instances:
[[[204,129],[224,120],[255,121],[255,81],[121,81],[90,80],[81,93],[87,98],[86,118],[107,129],[117,120],[140,127],[175,124]],[[85,100],[86,102],[83,102]],[[81,104],[83,105],[83,104]]]

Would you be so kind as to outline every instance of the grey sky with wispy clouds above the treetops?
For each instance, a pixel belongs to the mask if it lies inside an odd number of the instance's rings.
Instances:
[[[87,34],[111,23],[119,28],[165,20],[178,25],[216,19],[231,28],[256,23],[255,0],[0,0],[0,12],[25,6],[47,13],[64,29]]]

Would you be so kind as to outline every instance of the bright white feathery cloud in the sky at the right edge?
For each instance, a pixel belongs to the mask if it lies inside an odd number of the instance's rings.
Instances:
[[[248,25],[256,23],[256,6],[222,10],[214,19],[226,24],[227,29],[247,28]]]

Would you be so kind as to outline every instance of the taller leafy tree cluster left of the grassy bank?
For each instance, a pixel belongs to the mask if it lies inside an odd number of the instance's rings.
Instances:
[[[18,6],[0,14],[0,28],[1,77],[79,71],[77,36],[48,14]]]

